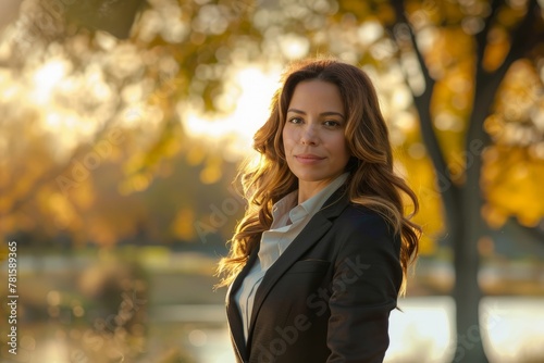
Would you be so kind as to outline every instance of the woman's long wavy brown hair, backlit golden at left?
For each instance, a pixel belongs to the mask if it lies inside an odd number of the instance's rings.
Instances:
[[[421,228],[410,221],[419,210],[416,193],[393,171],[388,130],[380,111],[378,96],[368,75],[357,66],[333,59],[310,59],[294,63],[284,74],[283,86],[272,99],[267,123],[255,134],[258,163],[245,163],[239,179],[248,206],[231,240],[231,250],[218,267],[218,285],[233,281],[249,254],[272,225],[272,205],[298,188],[298,179],[285,159],[282,130],[295,87],[304,80],[320,79],[338,87],[347,114],[345,136],[351,158],[346,182],[353,203],[376,211],[400,234],[400,265],[406,286],[408,266],[418,255]],[[405,197],[412,213],[405,215]]]

